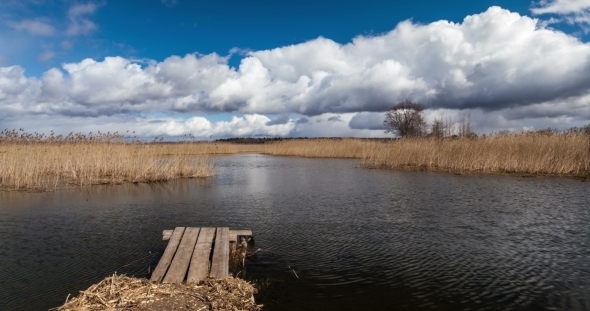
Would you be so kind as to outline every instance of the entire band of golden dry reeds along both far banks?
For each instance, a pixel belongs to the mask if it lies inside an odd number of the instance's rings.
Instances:
[[[213,171],[209,155],[243,152],[356,158],[368,168],[590,177],[590,135],[584,131],[262,142],[266,143],[127,143],[117,133],[47,137],[4,131],[0,133],[0,190],[206,177]]]

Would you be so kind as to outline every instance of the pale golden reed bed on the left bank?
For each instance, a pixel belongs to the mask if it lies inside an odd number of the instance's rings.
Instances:
[[[69,184],[157,182],[212,175],[207,156],[171,154],[163,145],[128,144],[117,140],[117,135],[71,140],[19,137],[6,132],[0,136],[0,189],[51,190]]]

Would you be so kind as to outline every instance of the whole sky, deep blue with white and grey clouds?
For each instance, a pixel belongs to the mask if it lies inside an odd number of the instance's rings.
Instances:
[[[590,0],[3,0],[0,130],[382,137],[590,123]]]

